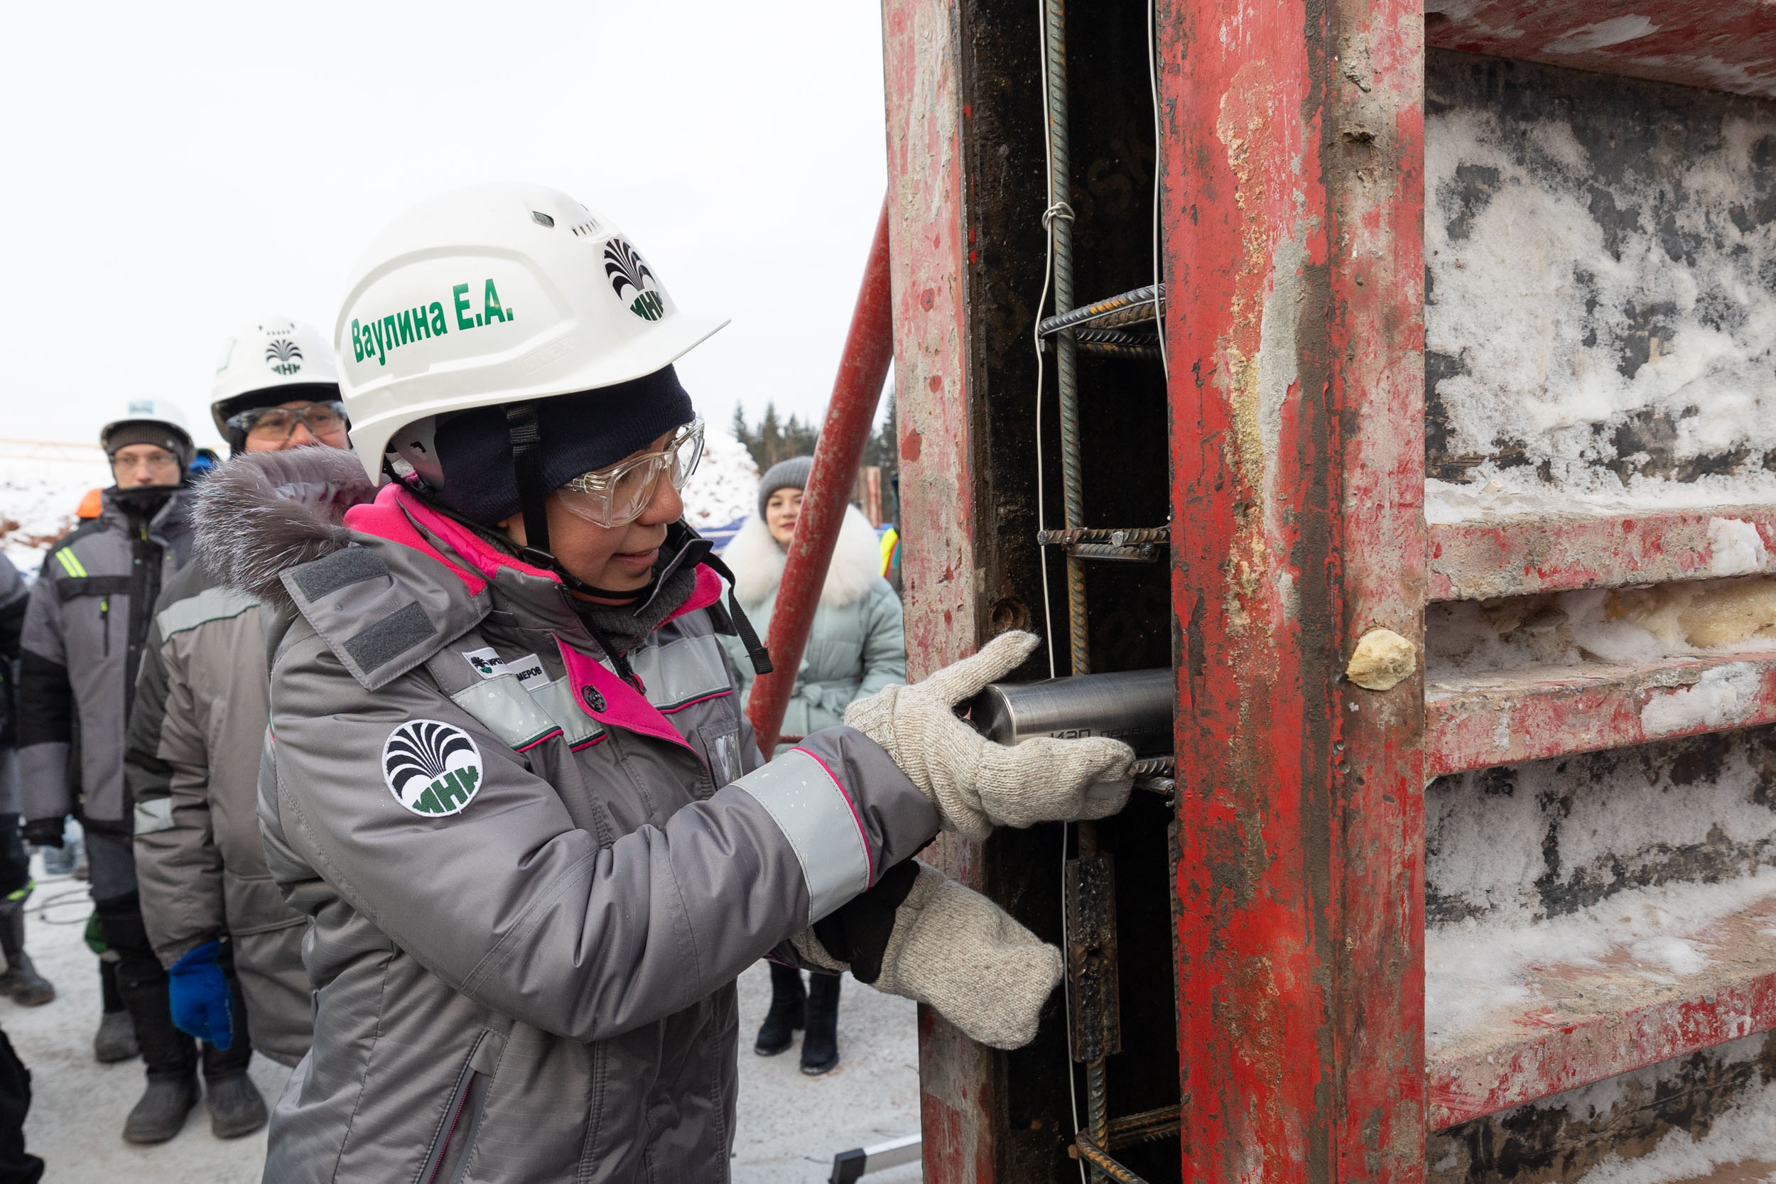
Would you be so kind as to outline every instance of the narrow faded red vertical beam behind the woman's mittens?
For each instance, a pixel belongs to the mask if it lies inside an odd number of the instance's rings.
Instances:
[[[909,678],[971,653],[982,625],[973,502],[963,493],[973,481],[955,23],[950,0],[883,4]],[[963,882],[979,880],[979,849],[954,834],[925,857]],[[998,1129],[993,1054],[931,1008],[918,1012],[925,1180],[986,1184]]]

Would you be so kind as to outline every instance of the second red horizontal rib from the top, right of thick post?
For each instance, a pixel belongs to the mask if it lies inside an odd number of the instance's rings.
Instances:
[[[1710,531],[1744,524],[1764,563],[1717,557]],[[1716,506],[1641,515],[1511,515],[1430,529],[1431,600],[1487,600],[1575,588],[1661,584],[1776,572],[1776,506]]]

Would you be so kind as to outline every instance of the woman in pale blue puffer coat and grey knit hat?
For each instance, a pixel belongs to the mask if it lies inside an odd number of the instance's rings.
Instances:
[[[810,456],[773,465],[758,486],[758,513],[741,525],[721,552],[733,570],[733,591],[741,607],[760,637],[771,628],[789,541],[801,517],[801,492],[812,469]],[[737,639],[723,635],[721,641],[728,644]],[[746,651],[733,644],[728,650],[741,671],[742,692],[751,694]],[[838,726],[845,722],[845,708],[852,699],[904,682],[906,627],[900,621],[900,598],[881,575],[876,531],[851,506],[821,588],[821,607],[813,614],[781,733],[785,738],[803,737]],[[776,1056],[794,1042],[796,1030],[803,1026],[806,1035],[801,1042],[801,1070],[829,1072],[838,1065],[838,978],[813,975],[812,983],[803,987],[799,971],[773,962],[771,1012],[758,1028],[753,1051]]]

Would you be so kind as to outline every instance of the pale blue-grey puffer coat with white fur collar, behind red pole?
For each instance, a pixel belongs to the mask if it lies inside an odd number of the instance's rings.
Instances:
[[[721,557],[733,572],[733,591],[758,635],[771,628],[778,584],[783,579],[783,549],[771,538],[758,515],[741,524]],[[751,666],[737,637],[725,637],[741,671],[741,691],[751,691]],[[833,563],[821,586],[808,648],[801,655],[796,689],[783,710],[783,735],[805,737],[845,722],[852,699],[906,682],[906,625],[900,598],[881,577],[876,531],[856,506],[833,547]],[[744,699],[742,699],[744,701]]]

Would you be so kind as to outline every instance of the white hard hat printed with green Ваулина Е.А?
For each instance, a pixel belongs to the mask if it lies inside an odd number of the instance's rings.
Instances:
[[[373,481],[400,428],[442,412],[609,387],[726,325],[680,312],[616,225],[540,185],[433,197],[352,272],[334,344]]]

